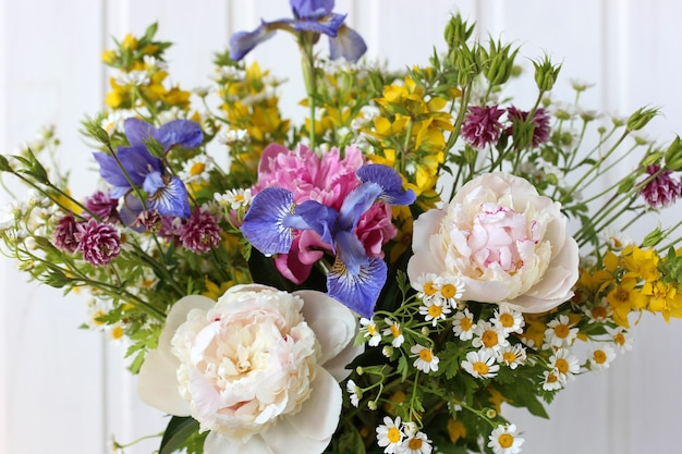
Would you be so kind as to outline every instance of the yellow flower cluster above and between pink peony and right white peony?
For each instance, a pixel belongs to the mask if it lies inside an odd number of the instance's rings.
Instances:
[[[428,75],[430,69],[414,71]],[[378,155],[370,159],[395,168],[422,207],[434,207],[440,199],[436,183],[444,163],[446,134],[453,130],[452,115],[446,111],[449,100],[428,94],[409,75],[403,84],[387,85],[376,102],[381,114],[366,134],[378,140]]]

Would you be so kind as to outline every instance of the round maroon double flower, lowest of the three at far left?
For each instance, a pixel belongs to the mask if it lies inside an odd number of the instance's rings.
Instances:
[[[78,250],[88,263],[103,267],[121,253],[121,236],[113,224],[90,219],[87,223],[76,224],[76,229],[74,236]]]

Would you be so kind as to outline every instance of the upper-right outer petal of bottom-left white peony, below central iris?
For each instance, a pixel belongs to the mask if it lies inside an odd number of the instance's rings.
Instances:
[[[303,317],[315,331],[322,352],[317,363],[325,366],[355,339],[355,316],[351,309],[321,292],[302,290],[294,292],[294,295],[303,298]]]

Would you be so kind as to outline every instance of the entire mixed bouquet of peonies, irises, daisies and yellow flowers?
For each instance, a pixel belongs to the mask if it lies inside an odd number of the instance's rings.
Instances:
[[[156,24],[115,41],[83,122],[100,186],[72,195],[52,131],[0,155],[34,191],[0,219],[3,253],[92,295],[89,326],[172,415],[160,453],[520,452],[503,402],[546,417],[644,311],[682,317],[681,222],[625,233],[682,195],[682,142],[637,136],[656,109],[583,109],[586,84],[552,99],[547,57],[513,99],[520,50],[460,15],[446,53],[391,72],[333,1],[290,4],[194,94],[168,84]],[[278,30],[301,50],[300,125],[243,62]]]

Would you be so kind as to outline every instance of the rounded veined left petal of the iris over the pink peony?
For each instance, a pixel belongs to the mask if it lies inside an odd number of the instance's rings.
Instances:
[[[290,191],[266,187],[252,200],[241,226],[242,234],[266,256],[289,253],[293,235],[291,226],[284,223],[292,221],[289,218],[293,206],[294,196]]]

